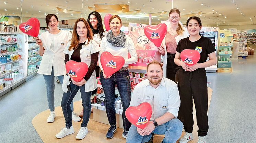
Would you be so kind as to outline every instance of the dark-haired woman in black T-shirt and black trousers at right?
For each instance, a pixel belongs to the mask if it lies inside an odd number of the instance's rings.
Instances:
[[[186,27],[190,37],[179,41],[176,48],[174,62],[182,68],[176,73],[176,82],[179,86],[179,95],[181,98],[181,106],[179,107],[179,115],[182,116],[185,134],[179,140],[179,143],[187,143],[193,140],[193,100],[196,107],[198,130],[198,143],[205,143],[205,136],[208,132],[208,94],[207,94],[207,78],[206,67],[210,67],[217,63],[216,49],[211,40],[199,35],[202,23],[199,17],[193,16],[187,20]],[[200,53],[199,61],[193,66],[187,66],[181,61],[181,52],[184,49],[197,49]],[[210,60],[206,61],[207,57]]]

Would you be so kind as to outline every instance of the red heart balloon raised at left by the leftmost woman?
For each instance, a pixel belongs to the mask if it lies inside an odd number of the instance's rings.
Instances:
[[[32,37],[37,37],[40,29],[39,20],[32,17],[27,20],[27,22],[21,23],[19,25],[21,32],[31,35]]]

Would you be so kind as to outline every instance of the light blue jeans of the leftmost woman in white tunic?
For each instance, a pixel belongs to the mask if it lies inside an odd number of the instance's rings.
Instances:
[[[55,80],[54,80],[54,72],[53,69],[51,70],[51,75],[45,75],[43,74],[44,79],[45,79],[45,85],[46,85],[46,92],[47,92],[47,101],[48,101],[48,106],[50,111],[54,111],[54,84],[55,84]],[[62,85],[63,83],[63,75],[58,76],[60,83]],[[73,112],[73,101],[71,102],[71,109]]]

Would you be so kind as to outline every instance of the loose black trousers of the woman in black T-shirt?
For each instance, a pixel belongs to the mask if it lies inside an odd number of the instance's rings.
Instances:
[[[183,122],[184,129],[188,133],[193,132],[193,99],[196,108],[198,136],[206,136],[208,126],[208,93],[205,68],[193,72],[186,72],[179,69],[176,73],[176,81],[179,87],[181,106],[179,107],[178,118]]]

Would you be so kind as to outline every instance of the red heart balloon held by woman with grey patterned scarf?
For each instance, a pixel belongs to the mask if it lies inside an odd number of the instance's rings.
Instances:
[[[112,75],[125,65],[125,59],[122,56],[113,56],[106,51],[101,54],[100,60],[106,76]]]

